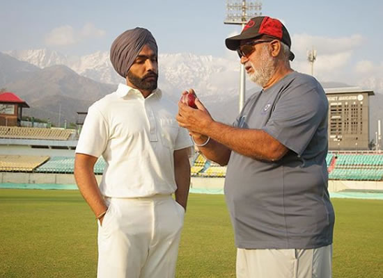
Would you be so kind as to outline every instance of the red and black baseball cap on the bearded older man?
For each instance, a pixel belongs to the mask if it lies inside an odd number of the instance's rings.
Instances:
[[[253,17],[244,26],[240,35],[227,38],[226,47],[230,50],[237,50],[241,40],[270,37],[280,40],[291,48],[291,39],[286,27],[278,19],[272,17]],[[295,55],[290,51],[289,60],[294,60]]]

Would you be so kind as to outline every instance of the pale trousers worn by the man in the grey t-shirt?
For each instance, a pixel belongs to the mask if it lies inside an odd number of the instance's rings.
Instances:
[[[237,278],[331,278],[332,245],[314,249],[237,249]]]

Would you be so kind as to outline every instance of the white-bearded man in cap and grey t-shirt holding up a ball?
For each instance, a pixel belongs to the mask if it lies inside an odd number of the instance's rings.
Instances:
[[[180,103],[177,120],[207,158],[228,165],[237,277],[331,277],[325,92],[313,76],[291,69],[290,35],[278,19],[250,19],[226,47],[262,90],[233,126],[212,120],[198,100],[198,109]]]

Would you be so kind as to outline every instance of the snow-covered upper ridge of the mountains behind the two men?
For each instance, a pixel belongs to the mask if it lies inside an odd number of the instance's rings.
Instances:
[[[8,51],[6,54],[40,68],[66,65],[81,76],[101,83],[125,82],[114,70],[109,52],[97,51],[86,56],[65,56],[56,51],[35,49]],[[239,87],[240,65],[237,60],[194,54],[159,54],[159,86],[170,95],[194,88],[201,97],[225,99]],[[247,88],[253,88],[249,83]]]

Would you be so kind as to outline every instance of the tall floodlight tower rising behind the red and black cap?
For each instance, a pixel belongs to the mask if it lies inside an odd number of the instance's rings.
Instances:
[[[224,24],[236,24],[242,25],[242,29],[245,24],[251,19],[251,17],[256,17],[262,15],[261,10],[262,3],[257,0],[226,0],[226,19]],[[240,70],[240,100],[239,108],[242,111],[244,106],[244,90],[245,90],[245,74],[244,74],[244,65],[241,65]]]

